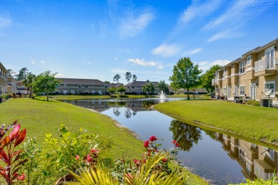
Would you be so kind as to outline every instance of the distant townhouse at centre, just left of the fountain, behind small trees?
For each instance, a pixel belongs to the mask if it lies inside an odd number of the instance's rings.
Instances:
[[[147,83],[153,83],[155,85],[155,93],[160,93],[160,89],[158,88],[158,82],[150,82],[147,81],[133,81],[132,83],[128,83],[125,85],[127,93],[143,93],[143,86]]]

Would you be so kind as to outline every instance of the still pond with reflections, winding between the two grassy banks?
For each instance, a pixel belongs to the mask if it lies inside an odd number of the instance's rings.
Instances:
[[[252,144],[227,134],[201,129],[150,110],[159,102],[180,99],[63,100],[101,112],[136,132],[140,139],[155,136],[163,148],[180,144],[177,159],[182,166],[210,181],[210,184],[241,183],[254,176],[267,179],[278,166],[274,149]]]

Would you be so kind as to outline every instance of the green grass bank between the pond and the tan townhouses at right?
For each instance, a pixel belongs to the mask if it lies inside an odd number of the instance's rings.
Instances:
[[[155,109],[184,122],[204,125],[240,138],[278,146],[278,110],[225,101],[173,101],[155,105]]]

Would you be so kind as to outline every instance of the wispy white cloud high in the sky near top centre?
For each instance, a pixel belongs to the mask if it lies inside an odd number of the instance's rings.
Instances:
[[[148,11],[134,17],[132,14],[123,18],[120,21],[120,38],[127,38],[136,36],[147,28],[148,24],[153,21],[155,15],[153,12]]]

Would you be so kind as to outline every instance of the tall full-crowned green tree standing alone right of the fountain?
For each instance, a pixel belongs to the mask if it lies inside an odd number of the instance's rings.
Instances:
[[[198,65],[193,65],[190,58],[180,58],[177,65],[174,65],[173,75],[170,76],[169,80],[172,82],[171,86],[186,89],[187,100],[190,100],[189,90],[197,87],[201,73],[202,70],[199,70]]]

